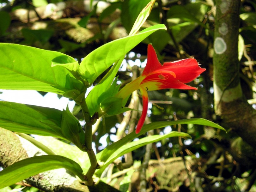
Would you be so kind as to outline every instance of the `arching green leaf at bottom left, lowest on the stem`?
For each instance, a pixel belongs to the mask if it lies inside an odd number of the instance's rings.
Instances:
[[[45,171],[66,168],[84,180],[82,168],[75,161],[58,155],[35,156],[18,161],[0,172],[0,188]]]

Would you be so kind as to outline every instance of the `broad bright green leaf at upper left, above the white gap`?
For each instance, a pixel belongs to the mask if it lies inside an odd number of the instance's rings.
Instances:
[[[64,94],[82,82],[64,67],[52,67],[52,60],[62,57],[63,63],[74,63],[70,56],[25,45],[0,43],[0,89],[37,90]],[[70,80],[73,78],[73,80]]]

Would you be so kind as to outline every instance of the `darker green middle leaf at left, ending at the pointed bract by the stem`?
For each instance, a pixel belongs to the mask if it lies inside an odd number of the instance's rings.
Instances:
[[[0,127],[11,131],[64,139],[61,117],[57,109],[0,101]]]

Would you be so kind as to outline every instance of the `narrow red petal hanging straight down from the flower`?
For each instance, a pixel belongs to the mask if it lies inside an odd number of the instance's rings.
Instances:
[[[148,93],[145,89],[143,89],[142,87],[140,88],[140,91],[142,93],[142,104],[143,104],[143,108],[142,108],[142,113],[140,116],[140,119],[137,123],[137,127],[136,127],[136,134],[138,134],[144,124],[144,121],[146,119],[147,116],[147,112],[148,112],[148,104],[149,104],[149,97],[148,97]]]

